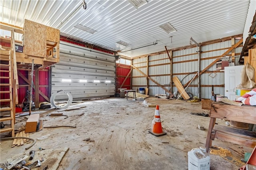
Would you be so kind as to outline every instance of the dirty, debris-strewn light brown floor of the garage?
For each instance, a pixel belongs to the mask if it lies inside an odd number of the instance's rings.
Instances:
[[[58,170],[187,170],[188,151],[204,146],[210,117],[191,115],[190,113],[209,113],[201,109],[201,103],[184,101],[159,101],[146,98],[150,104],[158,104],[162,127],[167,135],[155,137],[148,133],[152,129],[155,107],[146,107],[142,101],[132,98],[105,98],[86,100],[75,107],[76,110],[60,111],[38,110],[44,127],[69,125],[72,127],[44,128],[29,133],[37,139],[50,134],[48,139],[37,140],[30,149],[40,152],[43,149],[61,149],[68,147]],[[63,113],[64,116],[50,116],[51,113]],[[66,119],[64,119],[66,118]],[[26,117],[16,118],[15,129],[25,126]],[[225,121],[217,119],[216,123],[225,125]],[[205,130],[199,130],[198,124]],[[5,137],[1,134],[1,137]],[[8,134],[7,134],[8,135]],[[28,153],[25,148],[30,144],[13,147],[12,140],[1,141],[0,163],[15,154]],[[252,149],[215,139],[213,145],[231,147],[244,152]],[[237,158],[240,160],[241,156]],[[52,161],[42,162],[42,166],[51,167]],[[238,166],[218,155],[210,154],[211,170],[238,170]],[[42,168],[39,168],[42,169]]]

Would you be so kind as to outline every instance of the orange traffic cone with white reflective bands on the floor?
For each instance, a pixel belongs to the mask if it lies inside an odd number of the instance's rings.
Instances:
[[[160,112],[159,112],[159,106],[156,105],[156,111],[155,111],[155,117],[152,120],[153,128],[152,130],[149,130],[148,132],[152,135],[155,135],[156,137],[166,135],[166,132],[162,129],[161,124],[161,118],[160,118]]]

